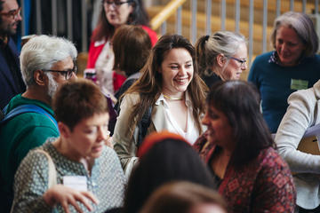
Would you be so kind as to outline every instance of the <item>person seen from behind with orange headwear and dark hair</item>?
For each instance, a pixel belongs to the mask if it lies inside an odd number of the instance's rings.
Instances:
[[[215,187],[207,166],[180,135],[151,133],[141,144],[138,156],[140,162],[132,170],[124,197],[124,213],[139,212],[158,187],[172,181]]]

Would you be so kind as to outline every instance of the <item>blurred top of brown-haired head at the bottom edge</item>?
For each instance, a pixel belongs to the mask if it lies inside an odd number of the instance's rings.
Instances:
[[[140,213],[227,213],[219,193],[187,181],[164,184],[143,205]]]

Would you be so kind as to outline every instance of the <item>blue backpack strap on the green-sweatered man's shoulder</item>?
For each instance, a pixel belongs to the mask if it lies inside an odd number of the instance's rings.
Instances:
[[[4,112],[6,111],[6,108],[4,109]],[[58,123],[56,120],[52,117],[51,114],[47,113],[42,107],[36,106],[36,105],[20,105],[12,109],[8,114],[4,115],[4,119],[0,121],[0,124],[3,124],[4,122],[10,121],[12,118],[19,114],[24,114],[24,113],[37,113],[37,114],[44,114],[46,115],[52,123],[55,125],[55,127],[58,129]]]

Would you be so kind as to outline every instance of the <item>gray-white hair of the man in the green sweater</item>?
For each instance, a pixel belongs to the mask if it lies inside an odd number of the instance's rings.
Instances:
[[[34,72],[50,69],[54,63],[71,57],[76,60],[76,47],[65,38],[56,36],[35,36],[23,45],[20,53],[20,67],[27,87],[36,84]]]

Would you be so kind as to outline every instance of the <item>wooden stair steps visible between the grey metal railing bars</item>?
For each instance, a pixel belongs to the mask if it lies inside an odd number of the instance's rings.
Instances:
[[[154,17],[158,12],[160,12],[164,5],[167,4],[168,0],[162,0],[158,5],[150,6],[148,8],[148,14],[150,18]],[[294,2],[294,11],[302,12],[303,5],[302,1]],[[190,39],[190,28],[191,28],[191,1],[188,0],[182,5],[182,36],[186,36]],[[308,1],[306,4],[306,13],[313,13],[315,10],[315,1]],[[246,38],[249,37],[249,0],[240,1],[240,22],[239,28],[240,33],[242,33]],[[236,11],[236,0],[226,1],[226,20],[225,28],[226,30],[235,31],[236,21],[235,12]],[[284,13],[290,11],[290,1],[282,0],[280,4],[280,12]],[[276,0],[268,0],[268,28],[267,28],[267,51],[273,50],[270,44],[270,36],[273,29],[273,22],[276,19]],[[263,21],[263,0],[254,0],[254,14],[253,14],[253,42],[252,42],[252,60],[256,55],[262,53],[262,21]],[[175,13],[170,16],[167,20],[167,33],[175,33],[175,23],[176,15]],[[220,0],[212,0],[212,17],[211,17],[211,28],[212,32],[220,30]],[[196,14],[196,28],[197,28],[197,38],[205,35],[205,25],[206,25],[206,15],[205,15],[205,0],[197,1],[197,14]],[[157,31],[160,34],[160,30]],[[242,75],[243,79],[247,78],[249,70],[246,70]]]

